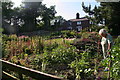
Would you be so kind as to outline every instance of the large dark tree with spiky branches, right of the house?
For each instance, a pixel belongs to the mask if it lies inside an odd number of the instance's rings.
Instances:
[[[94,21],[92,18],[91,21],[95,24],[103,24],[107,26],[109,30],[112,29],[111,33],[113,35],[120,34],[120,8],[118,6],[120,6],[120,2],[101,2],[100,6],[95,6],[93,10],[90,10],[90,6],[86,7],[84,3],[82,4],[84,12],[92,13]]]

